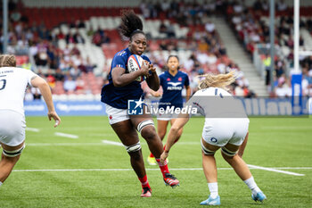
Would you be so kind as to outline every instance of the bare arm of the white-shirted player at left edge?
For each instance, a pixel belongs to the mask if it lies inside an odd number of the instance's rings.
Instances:
[[[61,123],[60,117],[57,115],[54,109],[54,104],[52,100],[52,93],[49,85],[45,79],[35,76],[31,79],[31,85],[33,87],[38,87],[42,96],[44,96],[45,104],[48,109],[47,116],[49,120],[53,119],[55,121],[54,127],[57,127]]]

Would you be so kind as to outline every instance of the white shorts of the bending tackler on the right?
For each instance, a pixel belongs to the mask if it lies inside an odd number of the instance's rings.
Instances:
[[[249,127],[248,118],[206,119],[202,138],[212,146],[241,146]]]

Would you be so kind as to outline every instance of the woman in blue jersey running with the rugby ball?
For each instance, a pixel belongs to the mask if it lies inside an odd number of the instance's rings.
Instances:
[[[131,166],[141,181],[143,187],[141,196],[149,197],[152,196],[152,189],[146,177],[141,145],[136,130],[144,137],[150,151],[155,155],[166,185],[176,187],[179,185],[179,181],[169,173],[167,164],[160,163],[163,146],[154,128],[152,117],[145,114],[145,109],[143,115],[129,115],[127,112],[128,100],[139,100],[136,104],[142,104],[143,89],[141,83],[135,79],[145,76],[147,85],[152,90],[156,91],[160,87],[160,80],[155,68],[149,58],[143,55],[147,40],[142,29],[143,23],[135,12],[123,12],[120,33],[129,38],[129,45],[113,57],[109,84],[103,87],[101,100],[105,103],[111,128],[114,129],[120,141],[126,147],[127,153],[130,155]],[[131,54],[140,55],[148,64],[142,63],[141,70],[129,73],[127,71],[127,60]]]

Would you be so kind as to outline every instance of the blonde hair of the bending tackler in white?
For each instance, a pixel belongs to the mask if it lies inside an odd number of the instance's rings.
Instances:
[[[232,84],[235,79],[235,71],[230,71],[226,74],[204,74],[198,76],[200,78],[204,78],[200,81],[198,87],[200,89],[208,88],[208,87],[219,87],[226,89],[226,86]]]

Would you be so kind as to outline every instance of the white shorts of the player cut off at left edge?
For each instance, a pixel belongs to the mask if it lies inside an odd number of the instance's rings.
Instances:
[[[21,145],[25,140],[25,116],[11,110],[0,110],[0,115],[0,142],[6,146]]]

